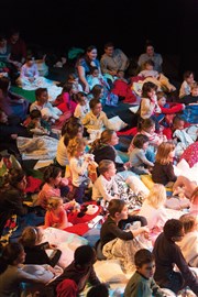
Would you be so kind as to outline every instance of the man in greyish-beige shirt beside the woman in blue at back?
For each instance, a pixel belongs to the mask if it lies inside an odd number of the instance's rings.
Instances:
[[[102,74],[114,76],[118,70],[127,70],[129,58],[120,48],[114,48],[112,42],[108,42],[105,44],[105,54],[101,56],[100,66]]]

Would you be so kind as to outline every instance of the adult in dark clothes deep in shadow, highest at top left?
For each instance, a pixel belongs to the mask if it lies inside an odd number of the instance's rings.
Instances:
[[[21,38],[19,29],[12,28],[10,30],[8,45],[10,46],[9,62],[20,70],[26,58],[26,44]]]

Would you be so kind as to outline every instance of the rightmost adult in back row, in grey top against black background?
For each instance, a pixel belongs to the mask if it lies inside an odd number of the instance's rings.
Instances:
[[[152,59],[154,62],[154,70],[162,73],[162,64],[163,64],[162,55],[155,53],[154,46],[150,41],[146,42],[145,53],[141,54],[138,59],[138,65],[141,70],[143,70],[144,63],[148,59]]]

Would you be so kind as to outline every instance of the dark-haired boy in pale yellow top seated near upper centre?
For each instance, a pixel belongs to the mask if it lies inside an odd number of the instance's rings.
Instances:
[[[102,111],[102,105],[99,99],[91,99],[89,107],[90,111],[81,121],[89,134],[94,133],[95,131],[100,133],[105,128],[113,129],[106,113]]]

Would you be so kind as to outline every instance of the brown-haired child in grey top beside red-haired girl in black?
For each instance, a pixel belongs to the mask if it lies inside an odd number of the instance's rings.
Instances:
[[[153,162],[146,158],[146,148],[148,146],[148,138],[143,134],[138,134],[133,139],[133,150],[130,152],[130,169],[135,174],[150,174]],[[148,168],[145,168],[148,167]]]

